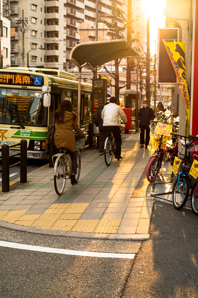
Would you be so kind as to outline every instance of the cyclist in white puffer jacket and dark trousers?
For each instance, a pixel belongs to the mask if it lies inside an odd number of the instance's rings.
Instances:
[[[121,145],[122,138],[120,134],[119,117],[122,119],[123,123],[127,123],[126,115],[122,108],[116,104],[116,97],[111,97],[109,99],[109,105],[105,105],[102,111],[102,119],[103,119],[103,128],[106,133],[112,132],[115,142],[116,142],[116,151],[115,158],[120,159],[121,156]]]

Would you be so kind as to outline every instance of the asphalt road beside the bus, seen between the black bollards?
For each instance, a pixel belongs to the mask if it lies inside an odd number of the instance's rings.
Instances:
[[[10,158],[10,165],[16,164],[17,162],[20,162],[20,158]],[[39,167],[42,167],[44,164],[49,163],[49,161],[45,160],[35,160],[35,159],[27,159],[27,173],[32,172],[33,170],[36,170]],[[0,169],[1,169],[1,163],[0,163]],[[0,186],[2,186],[2,173],[0,173]],[[13,181],[20,177],[20,165],[14,166],[10,168],[10,181]]]

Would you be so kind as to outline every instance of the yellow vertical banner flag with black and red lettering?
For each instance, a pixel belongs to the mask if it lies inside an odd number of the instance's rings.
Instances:
[[[166,42],[164,45],[169,54],[169,58],[175,69],[183,97],[186,103],[186,135],[190,133],[190,96],[188,90],[188,82],[186,79],[186,60],[185,60],[185,44],[184,42]]]

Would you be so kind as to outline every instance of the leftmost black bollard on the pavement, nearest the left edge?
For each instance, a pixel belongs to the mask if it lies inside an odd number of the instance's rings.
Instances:
[[[10,160],[9,160],[9,146],[3,144],[1,147],[2,158],[2,193],[10,191]]]

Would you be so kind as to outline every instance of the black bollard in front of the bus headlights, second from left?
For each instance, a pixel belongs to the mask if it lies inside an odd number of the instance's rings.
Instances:
[[[20,145],[20,183],[27,182],[27,141],[21,140]]]

